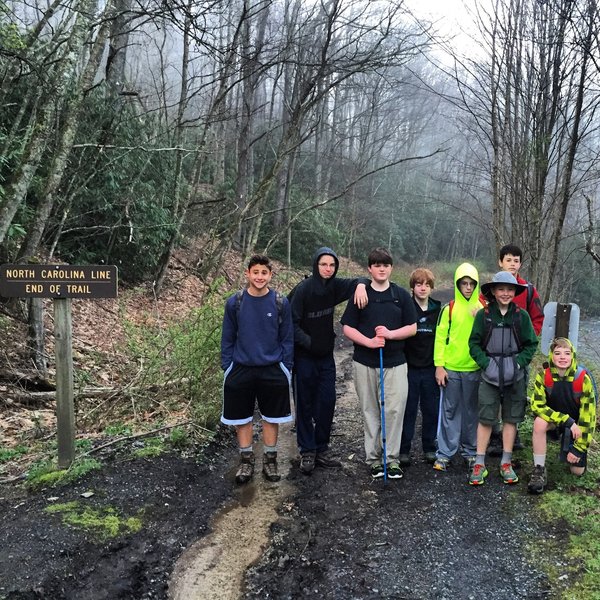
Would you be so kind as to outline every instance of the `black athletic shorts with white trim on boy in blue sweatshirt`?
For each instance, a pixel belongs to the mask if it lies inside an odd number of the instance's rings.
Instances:
[[[266,367],[233,364],[225,371],[221,422],[250,423],[256,403],[268,423],[291,421],[290,381],[291,374],[283,363]]]

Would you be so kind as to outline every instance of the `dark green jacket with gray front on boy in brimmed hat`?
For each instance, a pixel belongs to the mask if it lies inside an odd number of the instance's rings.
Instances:
[[[517,310],[519,327],[515,331]],[[525,367],[531,362],[537,344],[529,314],[512,302],[505,315],[502,315],[495,300],[475,315],[469,351],[481,367],[483,379],[492,385],[503,387],[523,379]]]

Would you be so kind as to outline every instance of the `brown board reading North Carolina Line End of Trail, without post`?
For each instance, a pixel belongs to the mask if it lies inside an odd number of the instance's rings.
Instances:
[[[7,298],[116,298],[114,265],[0,265]]]

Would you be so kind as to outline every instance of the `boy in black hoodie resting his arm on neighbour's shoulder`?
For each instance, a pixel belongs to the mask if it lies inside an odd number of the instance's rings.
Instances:
[[[341,463],[329,451],[335,410],[336,305],[356,291],[359,307],[366,306],[368,279],[338,279],[339,259],[327,247],[313,260],[313,275],[300,282],[291,297],[294,322],[294,400],[300,470],[310,474],[315,465],[335,468]],[[358,287],[357,287],[358,286]]]

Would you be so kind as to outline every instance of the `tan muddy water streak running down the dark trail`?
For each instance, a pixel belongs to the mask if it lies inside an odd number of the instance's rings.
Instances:
[[[253,480],[236,491],[236,498],[213,519],[211,533],[193,543],[179,558],[169,583],[170,600],[237,600],[248,567],[269,542],[269,530],[278,510],[293,491],[288,481],[290,461],[297,454],[290,425],[281,427],[278,462],[281,481],[262,477],[262,448],[255,445]],[[233,479],[237,465],[226,477]]]

